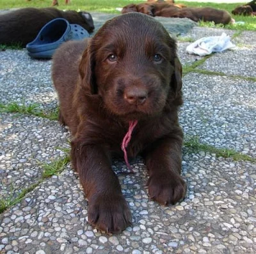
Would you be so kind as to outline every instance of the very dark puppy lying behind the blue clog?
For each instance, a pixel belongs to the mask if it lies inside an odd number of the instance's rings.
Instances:
[[[40,29],[52,19],[67,19],[78,24],[89,33],[94,29],[90,13],[85,11],[61,11],[56,8],[22,8],[0,14],[0,44],[20,43],[25,47],[33,41]]]

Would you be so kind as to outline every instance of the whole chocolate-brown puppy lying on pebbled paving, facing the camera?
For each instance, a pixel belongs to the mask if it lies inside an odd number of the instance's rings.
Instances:
[[[176,50],[157,20],[127,13],[106,22],[92,39],[64,43],[54,54],[60,122],[72,133],[72,163],[88,198],[88,219],[100,230],[118,233],[131,223],[111,168],[111,155],[124,158],[121,145],[131,125],[125,151],[145,159],[150,198],[164,205],[184,198]]]

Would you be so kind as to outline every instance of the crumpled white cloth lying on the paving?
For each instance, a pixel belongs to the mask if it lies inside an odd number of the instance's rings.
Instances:
[[[207,56],[212,52],[221,52],[226,49],[236,47],[231,41],[230,37],[222,33],[221,36],[204,37],[188,45],[186,52],[198,56]]]

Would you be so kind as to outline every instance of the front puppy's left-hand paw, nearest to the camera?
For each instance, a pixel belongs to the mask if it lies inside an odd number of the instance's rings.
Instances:
[[[131,225],[132,218],[122,195],[95,195],[89,200],[88,220],[99,230],[118,234]]]

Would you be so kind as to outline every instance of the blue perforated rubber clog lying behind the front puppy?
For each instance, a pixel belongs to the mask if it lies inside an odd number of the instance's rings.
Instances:
[[[26,45],[29,56],[51,59],[55,50],[69,40],[83,40],[89,33],[77,24],[69,24],[65,19],[53,19],[40,30],[35,40]]]

